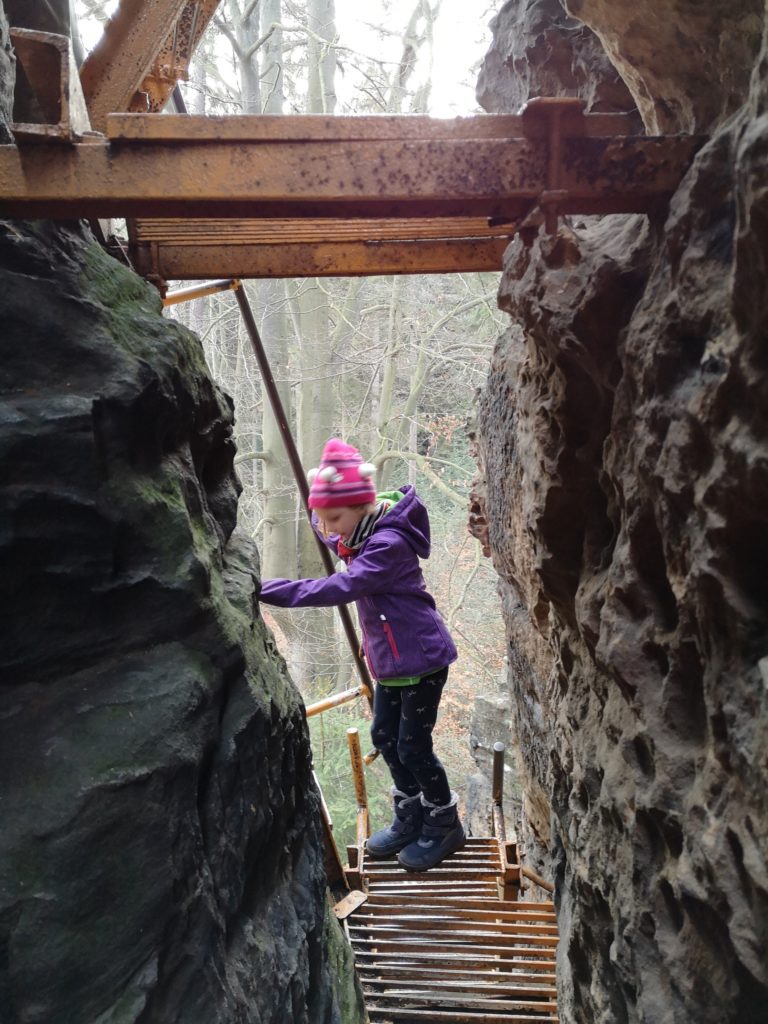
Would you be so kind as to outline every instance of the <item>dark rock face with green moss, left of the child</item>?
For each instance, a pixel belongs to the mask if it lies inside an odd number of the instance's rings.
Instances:
[[[2,1024],[360,1020],[231,402],[74,227],[0,222],[0,323]]]

